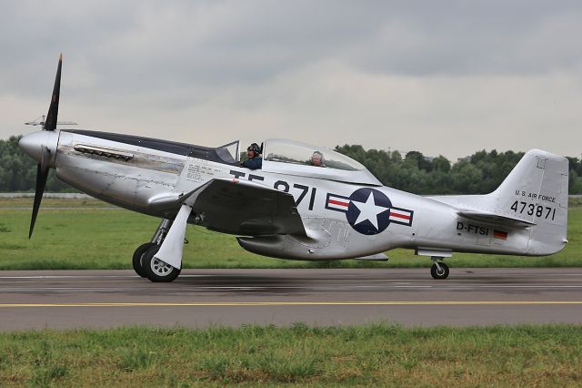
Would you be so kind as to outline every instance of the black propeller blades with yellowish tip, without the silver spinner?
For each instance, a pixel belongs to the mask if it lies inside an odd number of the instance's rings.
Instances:
[[[58,117],[58,100],[61,93],[61,68],[63,66],[63,54],[58,57],[58,66],[56,67],[55,87],[53,87],[53,96],[51,97],[51,104],[48,107],[46,114],[45,125],[43,130],[54,131],[56,129],[56,120]],[[48,136],[46,137],[48,139]],[[40,209],[40,202],[43,199],[45,192],[46,179],[48,178],[49,161],[51,159],[51,150],[45,144],[40,145],[40,158],[36,165],[36,188],[35,188],[35,202],[33,203],[33,215],[30,220],[30,230],[28,230],[28,238],[30,239],[35,230],[36,216],[38,209]],[[38,148],[36,148],[38,149]]]

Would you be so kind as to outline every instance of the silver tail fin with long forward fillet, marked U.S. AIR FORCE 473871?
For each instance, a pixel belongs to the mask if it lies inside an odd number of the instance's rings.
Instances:
[[[532,149],[491,194],[431,198],[461,217],[498,226],[494,238],[507,244],[497,252],[549,255],[567,243],[567,174],[567,158]]]

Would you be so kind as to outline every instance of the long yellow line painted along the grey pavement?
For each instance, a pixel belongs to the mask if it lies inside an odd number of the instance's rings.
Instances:
[[[257,307],[257,306],[491,306],[491,305],[582,305],[582,301],[201,301],[201,302],[92,302],[92,303],[0,303],[15,307]]]

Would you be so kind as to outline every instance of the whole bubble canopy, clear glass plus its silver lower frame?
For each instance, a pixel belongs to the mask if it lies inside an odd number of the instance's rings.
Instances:
[[[263,143],[263,170],[381,186],[361,163],[334,150],[283,138]]]

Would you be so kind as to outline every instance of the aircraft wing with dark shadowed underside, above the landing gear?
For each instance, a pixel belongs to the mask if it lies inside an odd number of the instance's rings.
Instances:
[[[289,193],[252,181],[212,179],[184,200],[210,230],[246,236],[306,235]]]

